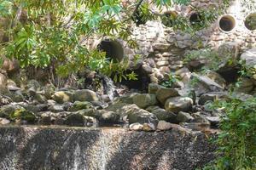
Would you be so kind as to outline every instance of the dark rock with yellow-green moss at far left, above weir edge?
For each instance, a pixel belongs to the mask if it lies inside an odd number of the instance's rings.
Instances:
[[[18,109],[14,111],[9,118],[13,121],[22,120],[31,123],[37,121],[35,114],[32,111],[26,111],[25,109]]]

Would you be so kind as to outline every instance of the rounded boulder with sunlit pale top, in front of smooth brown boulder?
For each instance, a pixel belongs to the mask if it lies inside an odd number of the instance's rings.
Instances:
[[[166,111],[178,113],[179,111],[190,111],[192,109],[193,100],[188,97],[175,97],[166,100]]]

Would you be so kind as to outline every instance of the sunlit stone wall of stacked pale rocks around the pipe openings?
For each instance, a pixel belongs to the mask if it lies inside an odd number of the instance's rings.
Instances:
[[[183,55],[187,51],[197,48],[199,43],[202,46],[218,48],[224,42],[236,42],[241,50],[240,53],[247,48],[255,47],[256,30],[248,30],[244,21],[248,14],[255,11],[256,6],[253,3],[245,5],[244,2],[246,1],[232,1],[230,7],[225,9],[224,14],[219,16],[218,20],[212,23],[212,26],[197,31],[193,37],[182,31],[173,31],[172,27],[164,26],[160,20],[150,20],[144,25],[132,26],[133,37],[139,48],[131,49],[125,42],[121,41],[125,56],[133,63],[134,55],[140,54],[142,60],[137,62],[139,65],[136,68],[142,65],[143,71],[148,74],[151,82],[160,82],[171,71],[183,68]],[[175,11],[176,14],[187,17],[189,20],[191,14],[195,14],[192,6],[205,9],[210,6],[218,8],[219,3],[220,0],[192,0],[191,5],[178,5],[172,9],[164,10],[162,14]],[[157,11],[157,8],[152,7],[152,10]],[[219,28],[219,22],[223,16],[226,16],[224,20],[231,20],[231,25],[234,25],[231,31],[223,31]]]

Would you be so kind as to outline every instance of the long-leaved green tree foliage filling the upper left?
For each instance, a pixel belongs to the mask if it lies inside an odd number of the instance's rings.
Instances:
[[[159,8],[173,5],[170,0],[139,0],[128,6],[120,0],[0,0],[1,18],[10,23],[4,28],[9,42],[0,45],[1,57],[18,59],[22,67],[53,65],[61,76],[79,71],[84,65],[100,71],[107,66],[104,71],[112,69],[120,73],[118,66],[108,65],[104,54],[83,43],[99,35],[122,38],[136,48],[131,38],[131,22],[137,11],[153,18],[149,4]]]

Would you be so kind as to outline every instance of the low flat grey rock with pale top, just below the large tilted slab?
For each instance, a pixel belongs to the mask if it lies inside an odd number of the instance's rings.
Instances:
[[[228,94],[224,92],[209,92],[207,94],[202,94],[198,100],[199,105],[205,105],[207,101],[215,101],[216,99],[229,99]]]

